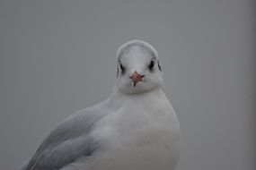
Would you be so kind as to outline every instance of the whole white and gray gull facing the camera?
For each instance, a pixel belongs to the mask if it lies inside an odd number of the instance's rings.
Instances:
[[[117,51],[110,97],[67,116],[21,170],[174,170],[180,136],[157,51],[134,39]]]

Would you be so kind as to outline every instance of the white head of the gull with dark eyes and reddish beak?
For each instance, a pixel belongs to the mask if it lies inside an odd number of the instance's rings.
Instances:
[[[117,88],[127,94],[143,93],[163,85],[163,72],[154,47],[132,40],[118,50]]]

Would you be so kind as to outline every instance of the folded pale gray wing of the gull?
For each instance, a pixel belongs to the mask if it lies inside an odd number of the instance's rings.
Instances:
[[[59,170],[78,158],[92,156],[99,146],[89,134],[103,116],[102,110],[95,108],[69,116],[41,143],[22,170]]]

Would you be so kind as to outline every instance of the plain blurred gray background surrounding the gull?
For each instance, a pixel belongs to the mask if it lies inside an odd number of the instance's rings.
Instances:
[[[108,98],[116,50],[151,43],[181,122],[179,170],[254,170],[248,0],[0,2],[0,169],[18,169],[64,119]],[[254,37],[255,38],[255,37]]]

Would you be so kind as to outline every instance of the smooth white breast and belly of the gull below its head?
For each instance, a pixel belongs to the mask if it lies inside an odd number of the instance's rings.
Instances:
[[[103,150],[81,170],[173,170],[177,165],[180,126],[161,89],[123,98],[93,135]]]

